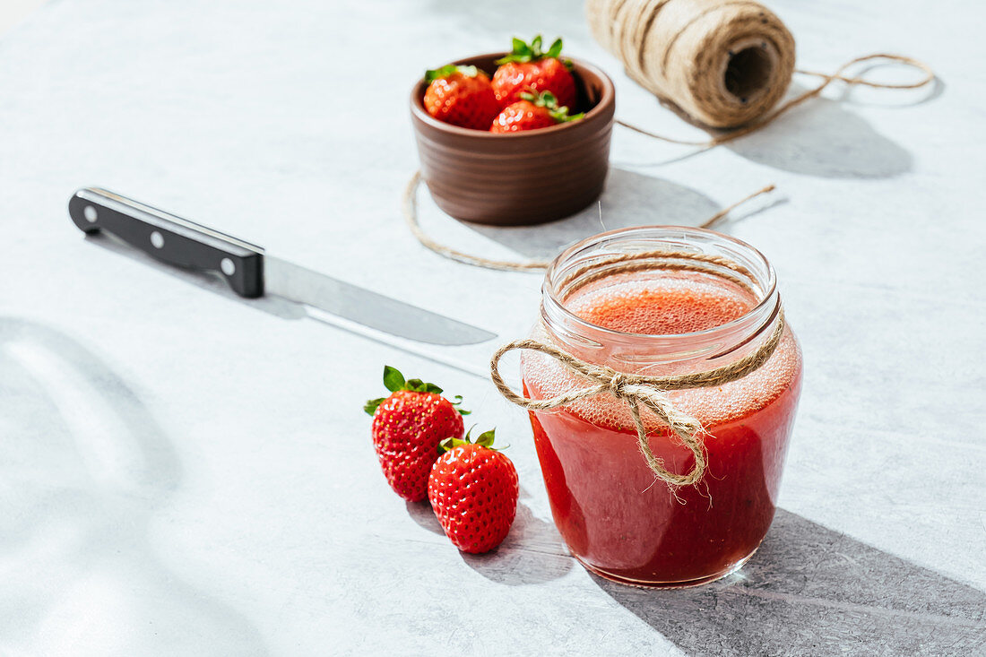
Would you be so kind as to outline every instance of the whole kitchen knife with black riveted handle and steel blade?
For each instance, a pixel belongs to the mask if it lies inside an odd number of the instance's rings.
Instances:
[[[496,337],[483,328],[272,257],[261,247],[106,189],[79,189],[69,200],[68,211],[86,233],[105,231],[163,262],[214,271],[247,299],[276,295],[304,304],[316,319],[342,328],[358,325],[402,340],[442,346]]]

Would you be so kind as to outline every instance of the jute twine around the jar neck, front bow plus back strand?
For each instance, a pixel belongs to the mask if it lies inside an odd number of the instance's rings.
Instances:
[[[686,261],[682,262],[681,260]],[[687,260],[691,261],[689,262]],[[622,264],[613,266],[614,263],[618,262],[622,262]],[[716,266],[709,266],[710,264]],[[749,272],[744,267],[725,257],[692,254],[688,252],[662,251],[615,255],[602,258],[575,271],[566,280],[571,282],[578,279],[581,287],[581,285],[585,285],[590,280],[596,280],[603,276],[611,276],[628,271],[639,271],[641,269],[691,269],[705,271],[734,281],[737,280],[736,276],[725,274],[719,267],[726,267],[740,274],[741,277],[750,277]],[[597,271],[593,272],[592,270],[594,269]],[[742,284],[747,289],[750,289],[747,284]],[[564,282],[562,286],[565,286]],[[571,288],[568,293],[571,294],[574,289],[578,288]],[[627,406],[629,406],[630,416],[633,419],[633,424],[637,431],[637,445],[644,456],[647,466],[654,472],[655,476],[669,484],[673,489],[676,486],[697,483],[701,480],[702,475],[705,474],[708,462],[703,435],[706,432],[698,419],[677,409],[668,399],[666,393],[676,390],[722,386],[732,381],[737,381],[760,368],[777,349],[777,345],[780,344],[781,337],[784,334],[784,311],[781,309],[780,303],[778,303],[777,313],[777,323],[773,332],[756,350],[733,363],[704,372],[665,377],[625,374],[605,365],[588,363],[554,345],[546,344],[535,339],[522,339],[505,344],[493,354],[490,360],[490,377],[493,379],[497,390],[500,391],[500,394],[507,401],[511,401],[528,410],[551,410],[564,406],[572,401],[585,400],[604,394],[618,401],[625,401]],[[586,388],[572,390],[562,395],[543,400],[524,397],[511,389],[500,375],[500,360],[505,354],[514,350],[538,351],[546,354],[554,358],[570,372],[585,379],[590,385]],[[644,421],[641,417],[641,406],[650,409],[662,423],[669,427],[670,432],[677,436],[681,443],[694,455],[695,464],[688,473],[677,474],[670,472],[665,467],[664,460],[654,455],[654,451],[651,449],[650,442],[648,441],[647,428],[644,426]]]

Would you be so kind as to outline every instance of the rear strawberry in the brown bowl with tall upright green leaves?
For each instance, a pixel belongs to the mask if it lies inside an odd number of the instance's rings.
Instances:
[[[497,60],[500,68],[493,74],[493,91],[501,108],[521,100],[521,93],[528,89],[551,92],[560,107],[574,108],[576,100],[575,78],[572,62],[558,58],[561,39],[556,38],[547,52],[541,52],[541,36],[533,37],[530,44],[514,38],[513,51]]]

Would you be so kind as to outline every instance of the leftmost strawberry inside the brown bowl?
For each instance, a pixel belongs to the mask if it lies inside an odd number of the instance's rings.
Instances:
[[[425,90],[425,110],[461,127],[488,130],[500,111],[490,79],[475,66],[449,64],[425,72],[430,84]]]

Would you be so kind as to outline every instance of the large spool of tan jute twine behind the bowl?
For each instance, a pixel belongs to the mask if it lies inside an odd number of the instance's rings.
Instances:
[[[710,127],[737,127],[777,105],[795,39],[751,0],[589,0],[593,36],[627,75]]]

